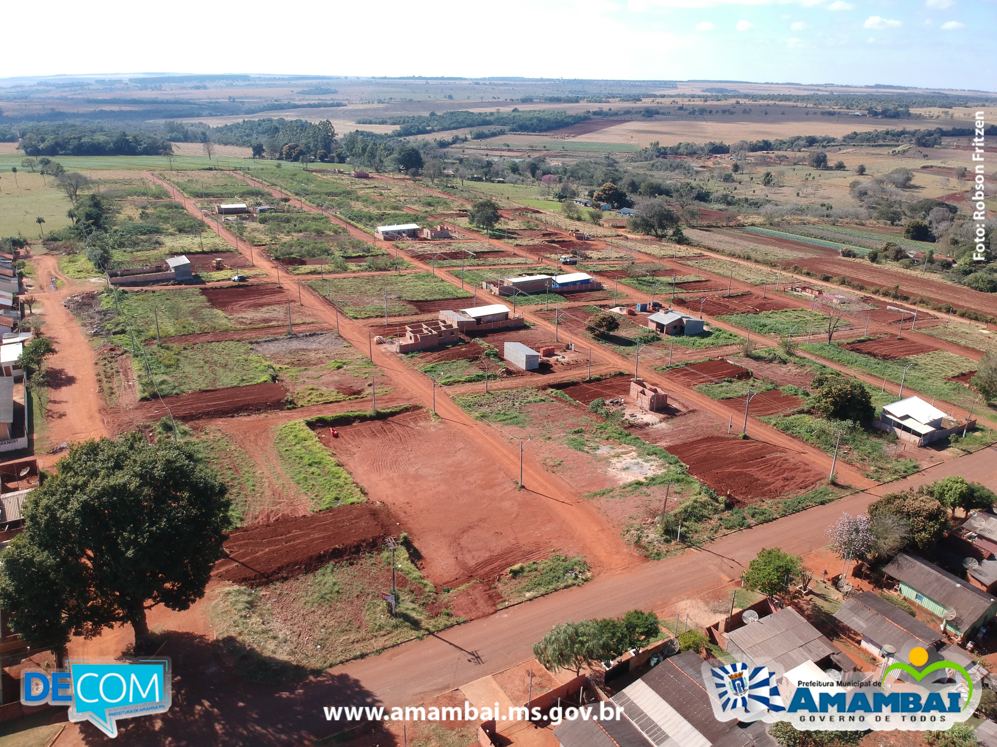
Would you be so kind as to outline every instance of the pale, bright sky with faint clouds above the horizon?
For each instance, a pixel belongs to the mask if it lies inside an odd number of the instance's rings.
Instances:
[[[997,0],[56,0],[44,19],[25,3],[5,17],[39,33],[7,35],[0,78],[524,76],[997,90]]]

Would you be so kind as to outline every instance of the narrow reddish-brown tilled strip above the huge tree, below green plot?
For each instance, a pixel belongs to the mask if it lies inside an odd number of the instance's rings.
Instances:
[[[166,417],[169,411],[179,420],[196,420],[202,417],[224,417],[250,412],[283,409],[287,389],[279,383],[254,383],[249,386],[229,386],[224,389],[190,391],[163,399],[142,400],[128,408],[109,414],[109,427],[125,428],[139,422],[149,422]],[[169,405],[169,410],[166,405]]]

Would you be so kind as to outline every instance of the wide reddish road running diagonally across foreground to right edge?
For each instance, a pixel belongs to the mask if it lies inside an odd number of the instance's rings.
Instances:
[[[877,497],[950,474],[997,489],[997,447],[730,535],[699,552],[601,576],[583,587],[346,664],[333,673],[349,674],[387,705],[418,702],[528,658],[533,641],[557,622],[618,616],[635,608],[664,611],[736,580],[762,548],[781,547],[796,555],[813,552],[827,545],[827,527],[841,512],[861,513]]]

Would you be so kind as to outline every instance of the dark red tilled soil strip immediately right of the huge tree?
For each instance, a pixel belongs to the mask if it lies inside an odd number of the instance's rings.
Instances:
[[[376,550],[400,526],[383,506],[340,506],[233,531],[212,575],[257,587],[316,571],[332,560]]]

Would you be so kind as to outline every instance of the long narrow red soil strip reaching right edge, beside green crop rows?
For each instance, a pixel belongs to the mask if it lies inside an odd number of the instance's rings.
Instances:
[[[957,309],[972,309],[997,316],[997,295],[981,293],[965,286],[948,285],[938,280],[932,280],[931,276],[927,274],[923,278],[914,278],[879,265],[850,262],[846,259],[833,257],[806,258],[802,259],[799,264],[811,272],[824,272],[834,277],[843,275],[848,280],[861,283],[866,287],[892,288],[894,285],[899,285],[900,292],[910,296],[921,295],[938,304],[952,304]],[[918,314],[918,324],[920,324],[920,318],[921,315]]]

